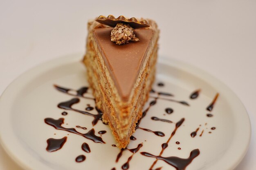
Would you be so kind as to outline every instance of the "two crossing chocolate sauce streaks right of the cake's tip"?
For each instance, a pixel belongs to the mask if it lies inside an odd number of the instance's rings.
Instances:
[[[166,163],[170,164],[171,166],[175,167],[177,170],[184,170],[186,168],[186,166],[188,166],[192,160],[197,157],[199,155],[199,150],[193,150],[191,153],[191,155],[188,159],[182,159],[182,158],[178,158],[178,157],[162,157],[162,154],[164,152],[164,150],[168,147],[168,143],[170,142],[170,140],[172,139],[172,137],[175,135],[176,131],[178,128],[180,128],[180,126],[182,125],[182,123],[185,121],[184,118],[180,119],[180,121],[178,121],[175,124],[175,129],[173,130],[173,132],[171,133],[171,136],[169,137],[169,139],[166,141],[166,143],[162,144],[162,150],[159,154],[159,156],[155,156],[153,154],[150,154],[148,152],[141,152],[142,155],[146,156],[146,157],[154,157],[156,158],[156,160],[153,162],[153,164],[150,166],[150,170],[152,170],[152,168],[155,166],[155,164],[157,163],[157,161],[163,160]],[[196,152],[196,154],[194,154],[194,152]]]

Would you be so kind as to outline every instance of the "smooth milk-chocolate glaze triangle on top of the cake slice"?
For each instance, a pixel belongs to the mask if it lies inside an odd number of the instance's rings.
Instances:
[[[152,29],[135,29],[139,42],[130,42],[125,45],[116,45],[110,41],[110,34],[113,28],[94,29],[94,36],[101,48],[106,65],[112,74],[119,95],[123,101],[128,101],[130,92],[138,78],[139,70],[148,45],[153,37]]]

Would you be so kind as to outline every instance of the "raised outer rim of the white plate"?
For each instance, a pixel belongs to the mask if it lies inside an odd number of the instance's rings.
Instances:
[[[12,98],[16,95],[16,94],[10,93],[11,89],[13,87],[16,87],[16,84],[18,84],[19,81],[22,81],[22,78],[24,78],[28,74],[36,75],[36,74],[38,74],[38,71],[47,70],[47,69],[54,68],[54,67],[60,66],[60,65],[70,64],[72,62],[79,62],[82,60],[82,56],[83,56],[83,53],[69,54],[69,55],[55,58],[53,60],[49,60],[45,63],[41,63],[41,64],[27,70],[26,72],[22,73],[20,76],[18,76],[14,81],[12,81],[7,86],[7,88],[4,90],[4,92],[0,96],[0,144],[2,145],[3,149],[8,154],[8,156],[11,159],[13,159],[13,161],[18,163],[18,165],[20,167],[30,170],[30,169],[34,169],[36,166],[36,169],[47,168],[50,170],[54,170],[53,168],[49,168],[49,166],[45,166],[45,164],[38,162],[37,159],[34,157],[30,156],[30,159],[27,159],[25,157],[24,158],[19,157],[18,154],[15,153],[13,151],[13,149],[11,149],[10,146],[7,144],[8,143],[7,139],[10,140],[10,138],[15,138],[16,136],[14,133],[11,135],[7,134],[3,130],[3,127],[5,127],[6,124],[8,125],[8,123],[7,123],[7,121],[3,122],[1,120],[4,120],[4,118],[6,118],[9,115],[6,113],[4,114],[4,111],[8,112],[7,106],[8,106],[8,104],[10,105],[12,103],[11,102],[12,100],[5,100],[5,98]],[[179,60],[169,58],[166,56],[162,56],[162,55],[159,55],[157,63],[171,65],[172,67],[176,67],[178,69],[182,69],[183,71],[190,72],[193,75],[196,75],[196,76],[199,75],[198,77],[200,77],[200,78],[204,78],[207,76],[208,77],[207,80],[210,78],[210,81],[211,81],[210,83],[213,85],[213,87],[220,85],[222,89],[225,89],[225,92],[227,94],[232,96],[232,101],[234,103],[237,103],[236,107],[240,108],[243,115],[241,116],[241,115],[234,114],[234,113],[232,113],[232,115],[236,116],[236,118],[239,120],[241,120],[241,119],[243,120],[244,124],[240,125],[240,126],[242,126],[244,130],[243,131],[239,130],[237,134],[234,134],[232,143],[229,146],[229,149],[227,150],[229,152],[226,152],[225,154],[222,155],[222,157],[224,157],[224,158],[221,160],[218,160],[215,164],[213,164],[213,166],[214,166],[213,168],[212,167],[207,168],[207,170],[213,170],[216,168],[221,168],[221,169],[226,168],[227,170],[233,170],[236,166],[238,166],[240,161],[242,161],[242,159],[244,158],[244,156],[249,148],[249,143],[250,143],[250,139],[251,139],[251,123],[249,120],[248,112],[247,112],[245,106],[243,105],[242,101],[240,101],[238,96],[227,85],[225,85],[225,83],[223,83],[222,81],[218,80],[218,78],[212,76],[211,74],[209,74],[208,72],[206,72],[200,68],[197,68],[197,67],[190,65],[188,63],[185,63],[183,61],[179,61]],[[27,79],[29,79],[29,78],[27,78]],[[246,123],[246,125],[245,125],[245,123]],[[9,125],[9,126],[11,126],[11,125]],[[244,131],[247,133],[244,133]],[[240,135],[243,135],[244,138],[243,139],[239,138],[240,140],[237,140]],[[18,142],[16,142],[16,143],[18,143]],[[18,143],[18,144],[21,145],[20,143]],[[236,148],[237,144],[239,144],[240,153],[234,155],[234,149],[237,149]],[[24,148],[20,148],[20,149],[22,150]],[[25,153],[25,154],[27,154],[27,153]],[[228,157],[229,154],[232,154],[232,156],[233,156],[232,159],[229,159],[229,157]],[[27,154],[27,155],[29,156],[30,154]],[[229,161],[227,161],[227,160],[229,160]],[[33,162],[33,161],[35,161],[35,162],[37,161],[37,163],[31,164],[31,162]],[[227,164],[227,162],[229,162],[229,163]],[[225,163],[225,164],[223,164],[223,163]],[[224,165],[225,165],[225,167],[224,167]]]

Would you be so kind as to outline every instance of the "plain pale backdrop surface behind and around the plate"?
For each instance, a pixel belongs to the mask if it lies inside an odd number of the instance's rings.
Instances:
[[[0,94],[26,70],[85,51],[87,20],[108,14],[156,20],[160,57],[195,65],[238,95],[252,139],[236,170],[255,170],[256,0],[0,0]],[[20,170],[1,147],[0,170]]]

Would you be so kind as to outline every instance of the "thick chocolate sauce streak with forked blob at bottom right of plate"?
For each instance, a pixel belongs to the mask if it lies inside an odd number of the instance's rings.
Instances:
[[[155,156],[153,154],[150,154],[148,152],[141,152],[142,155],[146,157],[153,157],[156,158],[157,160],[163,160],[169,165],[173,166],[176,168],[176,170],[185,170],[186,167],[195,159],[199,154],[200,151],[199,149],[192,150],[190,152],[190,155],[188,158],[179,158],[179,157],[162,157],[161,155]],[[151,170],[152,168],[150,168]]]

